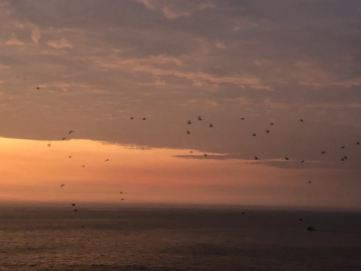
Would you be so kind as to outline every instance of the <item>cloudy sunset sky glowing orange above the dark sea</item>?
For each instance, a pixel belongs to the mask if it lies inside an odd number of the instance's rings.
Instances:
[[[361,209],[360,44],[359,1],[0,1],[0,202]]]

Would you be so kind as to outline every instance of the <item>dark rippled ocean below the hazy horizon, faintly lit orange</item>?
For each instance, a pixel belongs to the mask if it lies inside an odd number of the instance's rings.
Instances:
[[[361,213],[0,207],[0,270],[361,270]]]

